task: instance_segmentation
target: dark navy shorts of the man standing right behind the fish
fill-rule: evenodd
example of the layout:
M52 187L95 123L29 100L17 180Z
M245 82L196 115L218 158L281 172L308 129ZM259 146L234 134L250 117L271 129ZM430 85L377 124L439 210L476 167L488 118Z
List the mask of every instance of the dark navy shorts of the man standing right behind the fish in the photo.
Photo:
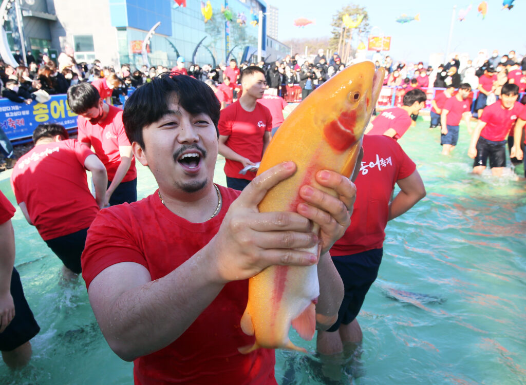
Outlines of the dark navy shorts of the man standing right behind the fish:
M378 276L383 249L372 249L358 254L332 257L332 262L343 281L345 294L338 311L338 320L327 331L336 331L340 325L349 325L360 312L372 282Z

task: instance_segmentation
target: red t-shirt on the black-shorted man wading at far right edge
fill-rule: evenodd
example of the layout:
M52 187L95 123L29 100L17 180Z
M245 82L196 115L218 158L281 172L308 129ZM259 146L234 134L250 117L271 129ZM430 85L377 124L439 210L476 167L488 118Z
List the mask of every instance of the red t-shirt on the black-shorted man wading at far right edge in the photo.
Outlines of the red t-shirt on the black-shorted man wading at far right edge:
M480 136L492 141L502 141L508 134L513 136L513 125L522 110L522 104L515 102L510 109L502 107L500 100L486 106L480 118L486 125L480 131Z

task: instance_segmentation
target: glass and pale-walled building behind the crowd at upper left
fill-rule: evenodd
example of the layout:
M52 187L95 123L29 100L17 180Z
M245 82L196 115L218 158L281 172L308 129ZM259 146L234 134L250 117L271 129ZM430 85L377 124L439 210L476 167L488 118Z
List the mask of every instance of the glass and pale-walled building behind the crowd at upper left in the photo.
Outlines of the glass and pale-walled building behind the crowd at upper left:
M22 3L27 50L47 52L52 59L70 45L77 62L96 58L103 65L171 67L178 56L200 65L226 63L232 57L239 62L248 46L258 46L259 11L264 14L265 55L267 5L259 0L209 0L204 8L197 0L15 1ZM15 16L9 16L6 31L14 52L21 39Z

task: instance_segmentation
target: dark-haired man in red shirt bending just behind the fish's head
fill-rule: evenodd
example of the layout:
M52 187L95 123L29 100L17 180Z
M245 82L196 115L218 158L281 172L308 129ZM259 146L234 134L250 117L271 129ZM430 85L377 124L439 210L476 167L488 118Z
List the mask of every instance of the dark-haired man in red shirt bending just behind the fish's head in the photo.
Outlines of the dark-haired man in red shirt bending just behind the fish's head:
M412 89L403 96L403 106L385 109L366 129L369 135L386 135L400 139L411 127L411 116L426 106L427 96L421 89Z

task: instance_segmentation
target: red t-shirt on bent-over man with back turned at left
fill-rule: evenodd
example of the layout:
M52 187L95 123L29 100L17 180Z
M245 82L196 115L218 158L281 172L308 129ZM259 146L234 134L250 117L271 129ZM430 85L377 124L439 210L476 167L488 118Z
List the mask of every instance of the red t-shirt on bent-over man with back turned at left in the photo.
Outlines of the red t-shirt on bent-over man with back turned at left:
M84 161L92 151L75 139L38 145L18 159L11 185L42 239L89 227L99 211Z

